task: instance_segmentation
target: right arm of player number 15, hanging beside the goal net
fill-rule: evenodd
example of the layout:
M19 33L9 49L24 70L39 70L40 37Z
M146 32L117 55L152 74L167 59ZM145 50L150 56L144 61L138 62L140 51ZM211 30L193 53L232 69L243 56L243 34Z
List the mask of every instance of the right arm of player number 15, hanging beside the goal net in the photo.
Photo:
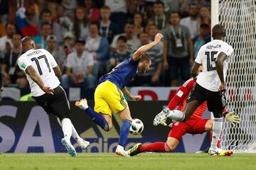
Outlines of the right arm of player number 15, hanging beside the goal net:
M216 70L218 73L218 77L220 78L220 91L225 91L225 79L223 74L223 62L226 59L227 55L224 52L220 52L216 60Z

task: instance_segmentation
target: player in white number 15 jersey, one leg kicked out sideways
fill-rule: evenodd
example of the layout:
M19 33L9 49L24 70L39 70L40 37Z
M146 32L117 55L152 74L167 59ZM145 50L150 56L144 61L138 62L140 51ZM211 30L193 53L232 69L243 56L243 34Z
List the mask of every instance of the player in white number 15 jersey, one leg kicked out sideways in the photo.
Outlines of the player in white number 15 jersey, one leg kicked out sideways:
M165 111L156 115L154 125L159 125L166 118L171 118L178 121L186 121L191 117L193 112L204 101L208 101L208 110L213 112L213 137L209 149L210 155L218 155L223 152L217 147L217 142L220 137L220 132L223 127L222 115L223 108L226 105L225 98L225 76L228 69L230 55L233 53L233 47L224 42L225 28L217 24L213 27L213 41L203 45L198 52L191 75L196 79L196 86L191 91L183 112ZM203 66L203 72L198 75L198 68Z

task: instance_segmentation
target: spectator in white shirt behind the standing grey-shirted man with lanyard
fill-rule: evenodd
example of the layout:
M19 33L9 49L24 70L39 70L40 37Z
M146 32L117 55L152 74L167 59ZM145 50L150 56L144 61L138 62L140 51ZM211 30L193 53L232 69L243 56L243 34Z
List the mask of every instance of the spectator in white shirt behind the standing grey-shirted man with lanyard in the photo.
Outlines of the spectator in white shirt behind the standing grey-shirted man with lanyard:
M200 27L200 18L199 18L199 6L196 4L191 4L189 8L189 16L181 19L181 25L189 28L189 33L191 39L195 38L198 35Z

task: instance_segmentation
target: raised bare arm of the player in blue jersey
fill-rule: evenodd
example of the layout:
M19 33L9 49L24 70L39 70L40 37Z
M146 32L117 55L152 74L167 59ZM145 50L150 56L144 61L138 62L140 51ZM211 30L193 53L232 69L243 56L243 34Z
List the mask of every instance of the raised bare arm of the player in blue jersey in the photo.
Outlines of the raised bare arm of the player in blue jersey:
M139 49L136 52L134 52L134 55L132 56L133 60L134 61L139 60L142 57L144 52L146 52L147 50L150 50L151 47L154 47L155 45L157 45L161 41L161 38L163 37L164 35L161 35L161 33L157 33L153 42L150 42L147 45L142 45L142 47L139 47Z

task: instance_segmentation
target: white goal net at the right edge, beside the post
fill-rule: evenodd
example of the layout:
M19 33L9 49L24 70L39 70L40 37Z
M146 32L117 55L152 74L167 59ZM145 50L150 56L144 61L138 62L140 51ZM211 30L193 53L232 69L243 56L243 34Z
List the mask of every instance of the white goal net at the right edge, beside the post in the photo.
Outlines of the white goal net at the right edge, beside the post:
M240 115L236 128L223 124L222 147L256 152L256 1L220 0L218 13L225 41L234 48L226 79L228 111Z

